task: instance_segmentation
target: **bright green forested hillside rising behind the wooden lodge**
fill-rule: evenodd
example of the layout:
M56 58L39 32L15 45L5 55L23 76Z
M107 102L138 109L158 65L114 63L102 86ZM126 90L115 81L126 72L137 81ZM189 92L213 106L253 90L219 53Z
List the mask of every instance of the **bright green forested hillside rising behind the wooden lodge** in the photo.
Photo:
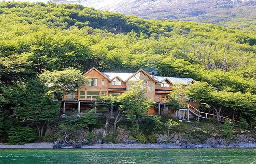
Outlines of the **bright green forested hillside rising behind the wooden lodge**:
M193 78L202 82L188 95L200 98L202 110L251 123L256 117L255 30L147 20L78 4L1 2L0 132L28 114L43 112L34 120L42 125L46 117L54 122L58 107L46 101L38 76L70 67Z

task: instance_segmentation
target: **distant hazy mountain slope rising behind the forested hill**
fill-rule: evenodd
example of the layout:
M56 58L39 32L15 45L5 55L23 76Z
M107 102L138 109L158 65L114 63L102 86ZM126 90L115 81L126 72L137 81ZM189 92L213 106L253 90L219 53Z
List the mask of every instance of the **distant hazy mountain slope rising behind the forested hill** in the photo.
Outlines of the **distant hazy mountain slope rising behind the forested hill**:
M146 19L177 19L241 27L255 24L256 0L53 0ZM245 25L241 24L245 22Z

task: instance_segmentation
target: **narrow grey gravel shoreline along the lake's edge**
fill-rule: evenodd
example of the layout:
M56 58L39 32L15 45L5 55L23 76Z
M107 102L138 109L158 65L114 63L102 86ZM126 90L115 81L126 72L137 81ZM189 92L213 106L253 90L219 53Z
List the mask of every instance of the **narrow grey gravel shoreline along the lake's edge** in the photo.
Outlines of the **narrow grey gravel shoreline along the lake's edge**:
M0 149L53 149L54 143L40 142L40 143L27 143L24 145L7 145L0 144ZM181 145L174 144L99 144L92 146L82 146L82 149L201 149L201 148L256 148L253 143L241 143L230 145ZM73 149L73 147L62 147L61 149Z

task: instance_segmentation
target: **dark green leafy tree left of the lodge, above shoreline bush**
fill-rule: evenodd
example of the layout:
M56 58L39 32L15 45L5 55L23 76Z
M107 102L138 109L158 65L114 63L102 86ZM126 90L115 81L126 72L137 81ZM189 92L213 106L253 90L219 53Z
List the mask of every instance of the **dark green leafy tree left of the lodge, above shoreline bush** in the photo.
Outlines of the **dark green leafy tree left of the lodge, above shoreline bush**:
M45 125L53 123L59 117L60 104L52 102L37 79L17 82L14 86L4 88L4 95L14 107L11 117L36 125L39 137L43 136Z

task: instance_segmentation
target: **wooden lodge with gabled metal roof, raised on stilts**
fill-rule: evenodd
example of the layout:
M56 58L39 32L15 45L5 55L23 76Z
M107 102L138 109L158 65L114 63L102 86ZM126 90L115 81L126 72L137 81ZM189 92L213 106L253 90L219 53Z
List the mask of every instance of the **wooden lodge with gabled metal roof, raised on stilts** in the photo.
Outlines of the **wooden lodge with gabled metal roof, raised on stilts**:
M119 96L121 93L128 91L131 85L130 81L143 80L143 85L147 88L146 95L148 99L156 102L156 105L148 111L149 114L178 116L180 115L178 111L174 112L173 109L168 108L168 94L172 91L174 84L182 84L181 87L185 88L188 84L194 82L191 78L154 76L154 72L147 73L143 69L135 73L113 73L100 72L98 69L92 68L83 76L88 76L91 81L86 86L81 86L78 91L67 92L63 97L63 114L68 114L72 109L78 109L78 113L91 108L97 110L100 104L97 97L108 94ZM197 102L194 99L187 102L187 104L197 108ZM117 111L117 108L117 106L111 108L111 115L113 111Z

